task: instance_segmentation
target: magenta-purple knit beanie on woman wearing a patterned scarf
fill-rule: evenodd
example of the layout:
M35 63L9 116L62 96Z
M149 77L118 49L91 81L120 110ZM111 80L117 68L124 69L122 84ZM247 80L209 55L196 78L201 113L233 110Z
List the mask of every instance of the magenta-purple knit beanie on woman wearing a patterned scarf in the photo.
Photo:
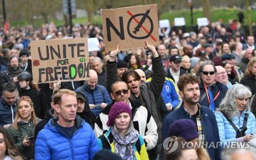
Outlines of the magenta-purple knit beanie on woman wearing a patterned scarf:
M108 122L106 122L106 125L108 127L113 126L115 118L123 112L129 113L130 117L132 117L131 107L128 104L126 104L125 102L116 102L115 104L113 104L110 109L109 120Z

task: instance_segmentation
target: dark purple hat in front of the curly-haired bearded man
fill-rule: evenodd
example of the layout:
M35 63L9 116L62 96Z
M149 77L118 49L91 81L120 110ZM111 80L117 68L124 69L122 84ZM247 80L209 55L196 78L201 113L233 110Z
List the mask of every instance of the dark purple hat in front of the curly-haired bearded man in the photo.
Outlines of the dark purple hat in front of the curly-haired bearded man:
M186 141L198 138L198 129L194 121L180 119L169 125L169 136L181 136Z

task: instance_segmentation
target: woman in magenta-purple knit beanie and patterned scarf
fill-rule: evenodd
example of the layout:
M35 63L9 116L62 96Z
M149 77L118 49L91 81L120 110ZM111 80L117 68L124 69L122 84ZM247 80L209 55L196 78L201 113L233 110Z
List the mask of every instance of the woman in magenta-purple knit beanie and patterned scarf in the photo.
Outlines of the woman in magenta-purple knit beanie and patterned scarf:
M110 129L98 139L101 149L109 149L125 160L148 159L144 140L134 129L129 105L125 102L116 102L110 109L106 124Z

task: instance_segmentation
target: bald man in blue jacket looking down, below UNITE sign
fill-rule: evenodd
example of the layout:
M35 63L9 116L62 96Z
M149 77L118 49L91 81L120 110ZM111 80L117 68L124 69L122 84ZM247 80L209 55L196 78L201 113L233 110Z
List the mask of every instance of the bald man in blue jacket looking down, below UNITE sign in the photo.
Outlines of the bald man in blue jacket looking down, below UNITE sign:
M88 97L89 106L94 115L99 116L102 109L112 102L110 95L103 85L98 84L98 75L94 70L89 71L90 80L75 91L82 92Z

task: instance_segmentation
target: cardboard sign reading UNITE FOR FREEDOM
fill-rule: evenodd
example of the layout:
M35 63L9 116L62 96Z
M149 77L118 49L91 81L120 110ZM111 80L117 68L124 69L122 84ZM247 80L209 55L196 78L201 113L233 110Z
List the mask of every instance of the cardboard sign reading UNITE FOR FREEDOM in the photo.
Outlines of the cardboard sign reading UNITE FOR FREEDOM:
M89 78L87 38L31 41L33 83Z

